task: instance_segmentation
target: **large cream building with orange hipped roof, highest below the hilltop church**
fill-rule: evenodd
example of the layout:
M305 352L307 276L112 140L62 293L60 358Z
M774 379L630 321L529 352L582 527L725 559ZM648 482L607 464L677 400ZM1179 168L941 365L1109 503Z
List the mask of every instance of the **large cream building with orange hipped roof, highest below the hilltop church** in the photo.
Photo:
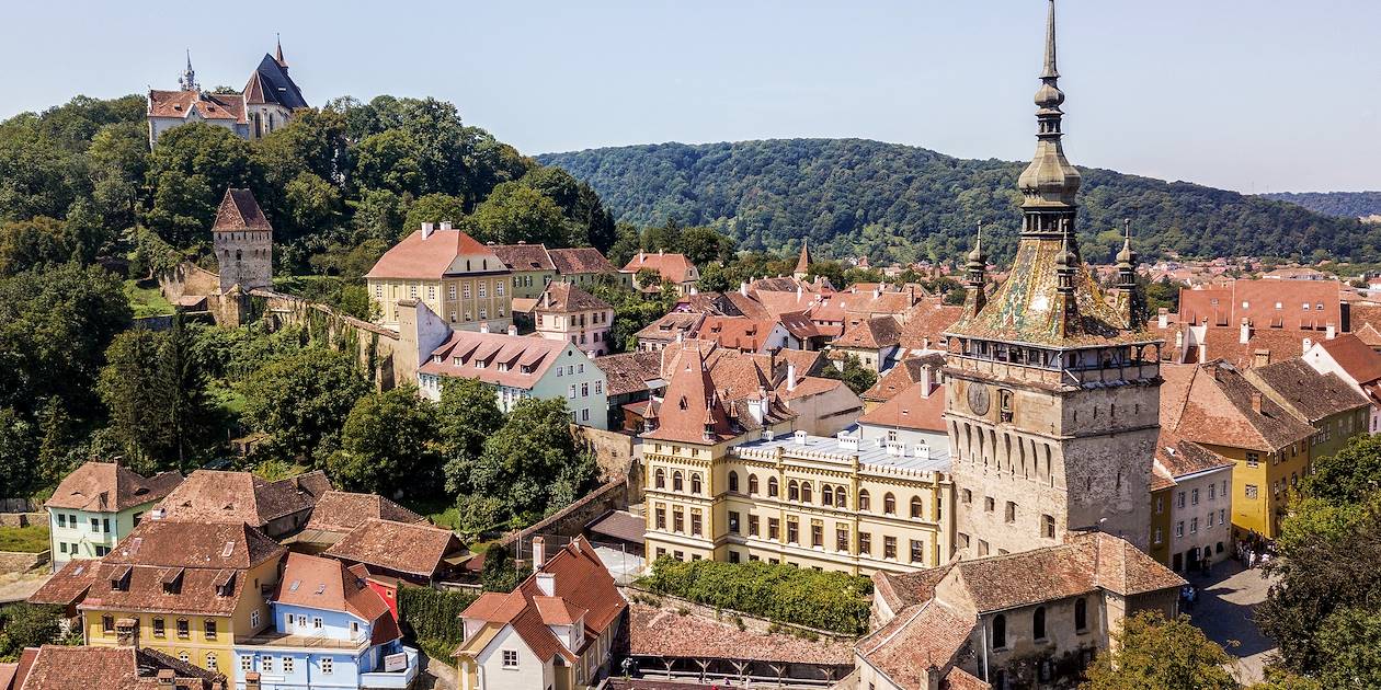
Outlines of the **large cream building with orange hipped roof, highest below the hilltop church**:
M398 328L398 301L417 299L457 330L501 331L512 323L512 272L486 246L450 226L421 229L395 244L365 275L378 323Z

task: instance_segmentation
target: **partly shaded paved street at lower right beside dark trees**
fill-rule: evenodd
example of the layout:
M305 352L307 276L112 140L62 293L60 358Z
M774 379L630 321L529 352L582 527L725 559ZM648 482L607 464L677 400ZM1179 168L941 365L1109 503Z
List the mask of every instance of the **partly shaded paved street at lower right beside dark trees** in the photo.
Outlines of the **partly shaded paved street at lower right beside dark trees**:
M1237 682L1259 682L1266 657L1275 650L1275 643L1253 622L1257 604L1266 600L1269 588L1261 569L1244 570L1237 562L1225 560L1214 566L1211 575L1189 575L1188 580L1199 588L1199 603L1186 611L1195 625L1237 657L1233 669ZM1239 643L1236 647L1233 640Z

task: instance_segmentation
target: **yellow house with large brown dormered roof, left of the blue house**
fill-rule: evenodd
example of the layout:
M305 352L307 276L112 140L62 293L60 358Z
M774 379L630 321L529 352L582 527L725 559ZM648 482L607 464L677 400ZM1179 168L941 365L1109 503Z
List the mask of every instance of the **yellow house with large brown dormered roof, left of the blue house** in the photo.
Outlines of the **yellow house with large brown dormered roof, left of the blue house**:
M243 523L145 520L90 570L54 580L88 582L77 604L87 644L137 642L235 679L235 640L272 625L267 592L284 552Z

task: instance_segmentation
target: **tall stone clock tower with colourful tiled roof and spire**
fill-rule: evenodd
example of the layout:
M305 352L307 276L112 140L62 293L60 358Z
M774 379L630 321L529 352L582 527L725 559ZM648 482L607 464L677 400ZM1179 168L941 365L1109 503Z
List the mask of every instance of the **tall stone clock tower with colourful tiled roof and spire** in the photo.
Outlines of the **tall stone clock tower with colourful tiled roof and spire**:
M1051 546L1073 531L1149 542L1160 341L1145 331L1135 280L1105 294L1080 255L1054 0L1040 80L1036 156L1018 181L1016 257L989 294L975 241L964 315L946 334L953 544L965 556ZM1124 254L1120 262L1134 261L1130 240Z

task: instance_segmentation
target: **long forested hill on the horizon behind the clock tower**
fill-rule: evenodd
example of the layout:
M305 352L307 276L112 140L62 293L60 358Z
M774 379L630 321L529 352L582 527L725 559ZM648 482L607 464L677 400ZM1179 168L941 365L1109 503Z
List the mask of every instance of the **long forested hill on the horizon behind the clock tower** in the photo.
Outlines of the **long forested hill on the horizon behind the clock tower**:
M1025 166L866 139L660 144L539 160L588 182L621 221L708 224L749 250L794 250L809 237L824 255L874 261L952 261L969 248L979 219L992 253L1008 257ZM1090 261L1116 254L1121 218L1132 219L1143 255L1348 257L1381 247L1381 226L1355 219L1188 182L1081 171L1077 229Z

